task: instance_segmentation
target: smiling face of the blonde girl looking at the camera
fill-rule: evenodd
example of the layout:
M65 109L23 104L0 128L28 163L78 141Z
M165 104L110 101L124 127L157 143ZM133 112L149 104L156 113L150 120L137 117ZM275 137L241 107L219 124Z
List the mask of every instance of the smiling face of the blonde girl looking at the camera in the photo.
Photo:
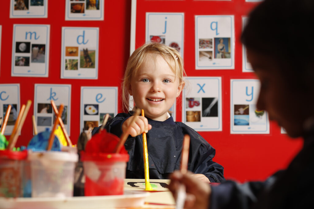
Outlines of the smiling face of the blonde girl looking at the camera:
M165 121L183 86L161 55L149 53L138 74L131 77L129 94L145 116Z

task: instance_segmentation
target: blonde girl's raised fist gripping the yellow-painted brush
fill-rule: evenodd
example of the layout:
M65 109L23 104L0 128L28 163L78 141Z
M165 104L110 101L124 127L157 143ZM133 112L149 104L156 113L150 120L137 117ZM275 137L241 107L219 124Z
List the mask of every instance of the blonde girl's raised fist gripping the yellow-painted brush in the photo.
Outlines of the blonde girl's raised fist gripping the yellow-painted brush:
M122 124L122 132L127 131L127 127L130 125L132 119L136 117L134 123L130 127L129 134L133 137L145 132L147 133L150 129L152 129L152 125L148 124L147 118L143 116L131 116L127 118Z

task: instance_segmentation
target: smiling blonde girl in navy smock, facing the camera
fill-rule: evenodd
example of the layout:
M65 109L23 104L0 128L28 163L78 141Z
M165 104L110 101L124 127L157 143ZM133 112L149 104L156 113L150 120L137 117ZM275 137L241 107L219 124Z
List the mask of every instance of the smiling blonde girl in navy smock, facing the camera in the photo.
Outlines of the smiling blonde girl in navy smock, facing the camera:
M184 87L183 60L168 46L151 42L133 52L125 72L122 98L124 108L129 108L133 96L135 108L144 110L138 116L126 141L130 160L126 178L144 179L142 133L146 133L149 155L149 177L167 179L180 168L184 134L191 137L188 170L205 182L222 182L224 168L213 162L215 149L196 131L184 123L174 122L168 110ZM106 129L120 137L132 121L133 111L120 113L106 124ZM95 131L94 131L95 132Z

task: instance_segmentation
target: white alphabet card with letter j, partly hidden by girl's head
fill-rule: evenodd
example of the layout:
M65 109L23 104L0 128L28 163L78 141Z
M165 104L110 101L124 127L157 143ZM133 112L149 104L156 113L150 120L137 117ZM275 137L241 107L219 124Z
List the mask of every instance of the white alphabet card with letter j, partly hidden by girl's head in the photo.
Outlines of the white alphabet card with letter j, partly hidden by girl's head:
M183 57L184 13L146 13L146 41L178 50Z

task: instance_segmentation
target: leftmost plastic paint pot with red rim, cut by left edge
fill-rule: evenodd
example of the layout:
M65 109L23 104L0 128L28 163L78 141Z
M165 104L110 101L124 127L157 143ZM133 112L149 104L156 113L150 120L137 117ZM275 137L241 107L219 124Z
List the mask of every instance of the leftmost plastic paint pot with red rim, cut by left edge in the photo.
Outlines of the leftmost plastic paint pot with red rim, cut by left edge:
M0 197L23 196L23 165L27 151L0 150Z

